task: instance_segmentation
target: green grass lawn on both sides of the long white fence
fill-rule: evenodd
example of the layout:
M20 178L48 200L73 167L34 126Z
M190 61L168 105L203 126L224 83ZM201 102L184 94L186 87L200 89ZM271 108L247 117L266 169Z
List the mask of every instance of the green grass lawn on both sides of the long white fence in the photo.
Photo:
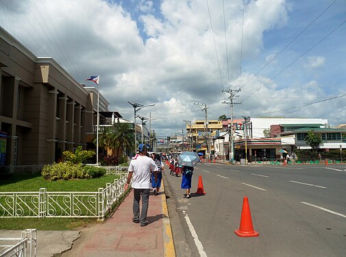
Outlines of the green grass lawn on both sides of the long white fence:
M40 174L18 174L1 178L0 192L38 192L40 188L47 188L48 192L97 192L98 188L105 188L106 183L112 183L117 178L119 176L104 175L90 180L49 181ZM73 230L96 222L96 218L0 218L0 230Z

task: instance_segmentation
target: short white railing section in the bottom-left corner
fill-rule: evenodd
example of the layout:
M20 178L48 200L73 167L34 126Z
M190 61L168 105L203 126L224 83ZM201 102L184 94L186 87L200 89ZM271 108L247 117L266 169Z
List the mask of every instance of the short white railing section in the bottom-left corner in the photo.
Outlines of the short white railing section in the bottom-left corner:
M0 238L0 257L36 256L36 229L23 230L19 238Z

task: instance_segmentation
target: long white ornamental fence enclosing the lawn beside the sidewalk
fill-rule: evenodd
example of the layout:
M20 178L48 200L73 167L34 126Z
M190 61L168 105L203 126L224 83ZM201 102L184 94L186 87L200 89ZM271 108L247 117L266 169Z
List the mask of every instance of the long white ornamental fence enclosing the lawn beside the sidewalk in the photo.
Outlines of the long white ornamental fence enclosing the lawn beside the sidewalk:
M120 175L97 192L0 192L0 218L59 217L103 219L123 195L127 167L107 168L108 174Z

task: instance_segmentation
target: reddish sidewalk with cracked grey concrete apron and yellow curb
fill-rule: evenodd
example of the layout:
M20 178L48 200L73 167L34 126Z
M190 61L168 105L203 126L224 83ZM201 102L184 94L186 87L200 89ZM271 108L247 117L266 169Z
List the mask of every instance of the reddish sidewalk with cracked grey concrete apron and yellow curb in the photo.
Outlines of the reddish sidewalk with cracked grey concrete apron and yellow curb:
M132 222L132 203L133 191L110 219L80 232L39 230L37 256L175 256L163 183L160 195L149 197L147 226ZM21 230L0 230L1 237L20 238Z

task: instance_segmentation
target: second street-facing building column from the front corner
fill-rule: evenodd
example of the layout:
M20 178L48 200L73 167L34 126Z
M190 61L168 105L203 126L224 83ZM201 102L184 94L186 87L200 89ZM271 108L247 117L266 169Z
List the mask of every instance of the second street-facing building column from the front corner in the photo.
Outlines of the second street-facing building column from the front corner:
M62 159L62 152L66 151L66 103L67 97L59 97L59 128L58 128L58 151L59 158Z

